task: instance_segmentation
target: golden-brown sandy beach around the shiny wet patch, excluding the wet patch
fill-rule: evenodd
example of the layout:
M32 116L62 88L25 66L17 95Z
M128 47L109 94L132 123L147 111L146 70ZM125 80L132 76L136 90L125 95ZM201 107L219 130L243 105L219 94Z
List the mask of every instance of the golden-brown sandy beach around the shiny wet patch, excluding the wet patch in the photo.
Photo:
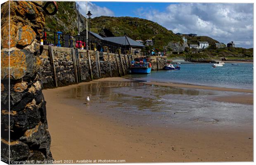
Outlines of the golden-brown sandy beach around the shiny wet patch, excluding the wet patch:
M218 127L214 124L194 128L166 123L156 124L139 115L126 117L124 116L126 113L111 109L94 110L94 107L100 106L99 103L106 108L109 107L108 100L99 97L97 104L90 102L86 105L81 99L77 101L70 92L78 90L79 94L83 94L80 90L84 85L95 86L101 82L128 83L128 81L130 80L123 78L106 78L43 90L52 137L51 152L55 160L62 160L62 163L64 160L70 160L66 163L83 163L83 160L125 160L126 163L253 161L252 122L238 129ZM190 88L191 86L175 85L174 87ZM200 89L209 90L209 88L252 92L215 87ZM104 90L103 87L101 89ZM225 98L216 100L229 102ZM239 103L238 99L233 98L232 101ZM251 98L244 99L243 104L251 104Z

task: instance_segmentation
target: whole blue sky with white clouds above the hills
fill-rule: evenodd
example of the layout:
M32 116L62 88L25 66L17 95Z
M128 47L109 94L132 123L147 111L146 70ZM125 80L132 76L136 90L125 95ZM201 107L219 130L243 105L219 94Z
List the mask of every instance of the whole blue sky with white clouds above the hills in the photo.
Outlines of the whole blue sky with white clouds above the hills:
M85 1L77 2L84 16ZM236 47L253 47L253 4L88 2L95 16L132 16L157 22L174 33L206 35Z

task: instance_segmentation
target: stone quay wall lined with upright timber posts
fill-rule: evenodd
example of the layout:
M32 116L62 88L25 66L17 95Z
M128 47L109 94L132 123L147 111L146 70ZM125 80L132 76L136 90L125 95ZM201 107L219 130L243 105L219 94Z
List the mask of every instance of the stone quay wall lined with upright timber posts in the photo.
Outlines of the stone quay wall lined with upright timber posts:
M39 56L44 88L126 75L136 56L44 45Z

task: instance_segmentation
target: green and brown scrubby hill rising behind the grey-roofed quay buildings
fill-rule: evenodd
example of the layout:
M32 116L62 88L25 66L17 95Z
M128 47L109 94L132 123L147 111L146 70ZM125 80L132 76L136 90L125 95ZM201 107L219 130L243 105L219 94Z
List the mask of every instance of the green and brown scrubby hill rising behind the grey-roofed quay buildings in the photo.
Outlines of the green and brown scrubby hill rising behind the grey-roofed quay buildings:
M127 35L133 40L151 39L154 47L160 51L164 50L164 46L167 46L169 42L183 43L180 36L156 22L136 17L95 17L91 19L91 30L106 37Z

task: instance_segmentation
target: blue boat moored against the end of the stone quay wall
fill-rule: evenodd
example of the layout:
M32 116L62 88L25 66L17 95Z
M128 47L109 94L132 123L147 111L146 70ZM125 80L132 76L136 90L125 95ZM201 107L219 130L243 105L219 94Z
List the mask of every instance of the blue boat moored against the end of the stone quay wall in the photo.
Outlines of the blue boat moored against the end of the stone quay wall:
M131 73L135 74L148 74L151 73L151 63L150 59L147 57L135 58L131 61Z

